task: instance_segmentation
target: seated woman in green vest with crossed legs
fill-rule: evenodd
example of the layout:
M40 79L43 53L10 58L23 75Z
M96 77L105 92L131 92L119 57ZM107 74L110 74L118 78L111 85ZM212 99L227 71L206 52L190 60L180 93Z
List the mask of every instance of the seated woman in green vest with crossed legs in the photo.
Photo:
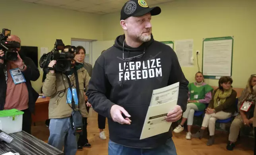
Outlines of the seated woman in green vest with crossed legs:
M191 139L191 127L193 125L194 112L206 109L206 104L211 100L211 91L213 88L204 82L204 76L201 72L197 72L195 76L196 82L188 84L188 104L187 109L183 113L183 118L173 132L179 133L184 130L184 123L187 121L188 133L186 139Z

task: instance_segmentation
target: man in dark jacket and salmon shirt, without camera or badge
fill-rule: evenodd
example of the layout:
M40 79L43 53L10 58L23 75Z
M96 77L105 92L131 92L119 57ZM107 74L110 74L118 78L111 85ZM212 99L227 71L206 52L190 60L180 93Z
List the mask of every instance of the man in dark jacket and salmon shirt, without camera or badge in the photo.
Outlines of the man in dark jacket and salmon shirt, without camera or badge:
M21 43L19 37L15 35L9 36L7 41ZM0 110L17 109L24 112L22 130L31 134L31 113L35 111L35 102L39 96L32 88L31 81L36 81L40 73L33 60L25 57L21 51L17 48L18 59L15 61L0 59ZM0 57L4 57L2 50ZM14 83L10 70L15 68L23 74L24 82Z

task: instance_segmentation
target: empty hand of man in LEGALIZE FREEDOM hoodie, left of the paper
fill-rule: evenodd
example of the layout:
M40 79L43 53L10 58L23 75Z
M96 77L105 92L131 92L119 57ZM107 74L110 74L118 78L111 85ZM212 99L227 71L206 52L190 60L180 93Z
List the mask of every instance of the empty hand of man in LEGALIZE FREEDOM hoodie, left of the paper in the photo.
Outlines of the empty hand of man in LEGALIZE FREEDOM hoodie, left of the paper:
M126 116L126 118L124 119L124 117L122 116L122 113ZM114 122L118 122L120 124L128 124L130 125L131 124L131 120L128 118L128 117L131 117L129 115L128 112L126 112L126 110L124 110L123 107L121 106L118 106L118 105L113 105L111 107L111 110L110 110L110 115L111 115L111 118Z

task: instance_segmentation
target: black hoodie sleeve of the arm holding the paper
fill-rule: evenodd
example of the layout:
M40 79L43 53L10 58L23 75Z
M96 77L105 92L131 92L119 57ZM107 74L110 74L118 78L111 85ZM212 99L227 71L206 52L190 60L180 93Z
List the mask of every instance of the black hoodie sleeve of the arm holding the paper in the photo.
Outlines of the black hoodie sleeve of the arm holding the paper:
M169 77L169 85L173 83L180 82L179 92L178 92L178 103L183 112L186 111L187 102L188 102L188 80L184 76L180 63L178 62L178 57L176 53L171 49L171 74Z

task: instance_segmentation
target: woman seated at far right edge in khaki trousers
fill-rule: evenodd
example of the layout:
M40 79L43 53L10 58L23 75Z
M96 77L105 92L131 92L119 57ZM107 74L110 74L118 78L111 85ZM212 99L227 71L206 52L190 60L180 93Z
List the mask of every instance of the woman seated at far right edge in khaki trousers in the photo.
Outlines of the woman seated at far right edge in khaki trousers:
M233 122L231 123L229 132L229 143L227 144L227 149L232 151L235 147L235 142L237 141L239 130L243 125L250 127L253 121L254 107L256 103L256 95L253 93L253 87L256 85L256 75L252 75L247 82L246 88L242 91L239 98L237 107L239 109L240 115L237 115ZM241 106L247 103L252 103L252 106L246 109L240 109Z

